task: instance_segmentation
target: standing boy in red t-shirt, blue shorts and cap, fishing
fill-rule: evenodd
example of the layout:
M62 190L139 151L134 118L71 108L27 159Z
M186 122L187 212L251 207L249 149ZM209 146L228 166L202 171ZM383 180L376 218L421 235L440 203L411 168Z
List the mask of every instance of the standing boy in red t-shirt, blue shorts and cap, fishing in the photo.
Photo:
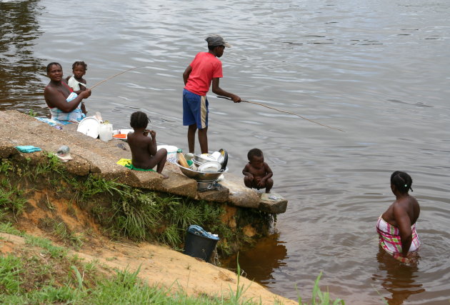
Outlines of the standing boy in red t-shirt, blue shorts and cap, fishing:
M199 129L201 154L208 154L208 100L206 93L212 81L212 91L220 96L227 96L235 103L241 102L236 94L231 94L219 87L222 75L222 63L218 59L224 54L225 47L231 47L219 35L206 37L208 52L200 52L187 66L183 73L183 125L188 128L189 152L194 153L195 134Z

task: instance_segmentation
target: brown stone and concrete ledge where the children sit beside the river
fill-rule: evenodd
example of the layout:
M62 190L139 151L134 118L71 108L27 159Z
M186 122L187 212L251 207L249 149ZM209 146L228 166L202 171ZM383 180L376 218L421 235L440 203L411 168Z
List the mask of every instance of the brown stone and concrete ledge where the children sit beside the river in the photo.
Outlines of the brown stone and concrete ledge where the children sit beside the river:
M187 196L194 199L228 203L249 209L261 209L271 214L284 213L287 200L274 203L260 201L259 194L244 186L242 177L225 173L223 188L214 191L197 191L197 182L181 173L178 166L166 163L162 179L151 171L131 171L116 164L119 159L131 159L131 151L125 141L112 139L104 142L76 131L77 124L68 124L62 130L49 126L19 111L0 111L0 158L14 156L19 160L36 163L46 158L46 153L55 153L61 145L69 146L71 161L63 163L69 173L76 176L96 174L104 179L142 189L163 191L169 194ZM43 151L21 154L15 146L34 145Z

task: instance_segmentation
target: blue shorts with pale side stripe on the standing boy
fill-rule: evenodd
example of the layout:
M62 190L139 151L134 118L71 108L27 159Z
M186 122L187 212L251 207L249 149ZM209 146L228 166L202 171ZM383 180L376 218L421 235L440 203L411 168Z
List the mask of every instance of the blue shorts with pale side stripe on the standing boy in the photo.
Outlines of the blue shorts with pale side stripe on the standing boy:
M208 104L206 96L183 89L183 125L196 124L198 129L208 127Z

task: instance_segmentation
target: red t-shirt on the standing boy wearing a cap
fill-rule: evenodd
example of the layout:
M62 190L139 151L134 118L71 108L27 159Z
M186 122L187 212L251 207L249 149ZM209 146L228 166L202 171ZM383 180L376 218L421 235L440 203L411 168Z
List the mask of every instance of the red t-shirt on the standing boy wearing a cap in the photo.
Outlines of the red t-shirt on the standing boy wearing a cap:
M190 66L192 71L184 89L194 94L205 96L209 91L212 79L223 77L222 62L211 53L200 52L195 56Z

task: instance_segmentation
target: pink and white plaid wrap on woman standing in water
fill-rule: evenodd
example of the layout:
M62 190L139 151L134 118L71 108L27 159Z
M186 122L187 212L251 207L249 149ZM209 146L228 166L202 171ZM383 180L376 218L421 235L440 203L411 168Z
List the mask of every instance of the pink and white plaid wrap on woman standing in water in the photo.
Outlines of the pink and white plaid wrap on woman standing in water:
M394 259L401 261L402 263L406 262L406 258L401 256L402 250L399 228L392 226L381 216L379 216L379 219L376 222L376 231L378 232L379 244L381 248L383 248L387 253L391 254ZM416 231L416 224L413 224L411 226L411 231L412 241L411 246L409 247L409 252L414 252L419 250L420 247L419 236L417 235Z

